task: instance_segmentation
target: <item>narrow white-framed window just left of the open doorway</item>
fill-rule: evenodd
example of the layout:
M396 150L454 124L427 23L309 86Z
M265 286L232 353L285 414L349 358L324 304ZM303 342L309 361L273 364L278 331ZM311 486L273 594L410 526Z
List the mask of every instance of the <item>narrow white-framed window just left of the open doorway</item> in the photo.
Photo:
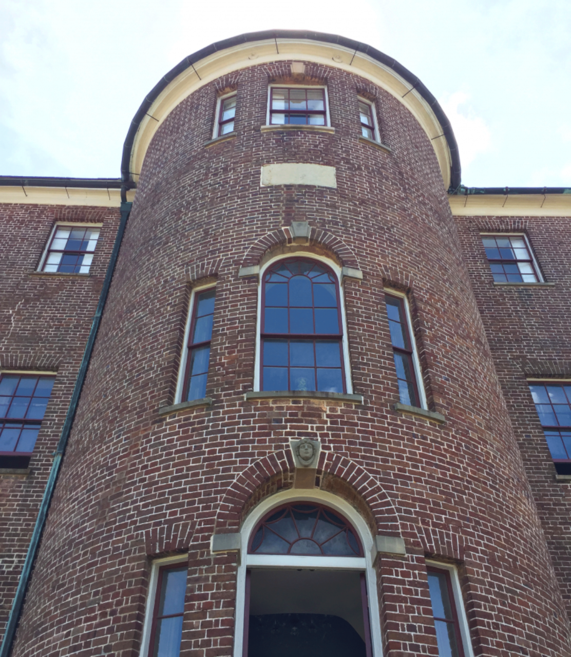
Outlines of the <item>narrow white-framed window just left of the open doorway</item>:
M152 564L141 657L179 657L187 591L187 555Z

